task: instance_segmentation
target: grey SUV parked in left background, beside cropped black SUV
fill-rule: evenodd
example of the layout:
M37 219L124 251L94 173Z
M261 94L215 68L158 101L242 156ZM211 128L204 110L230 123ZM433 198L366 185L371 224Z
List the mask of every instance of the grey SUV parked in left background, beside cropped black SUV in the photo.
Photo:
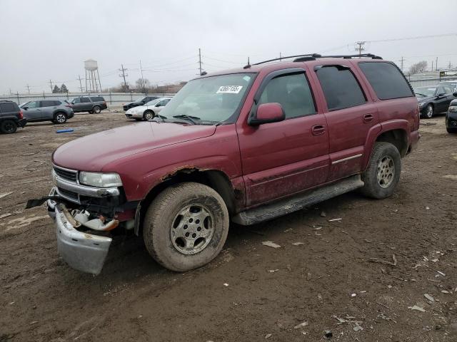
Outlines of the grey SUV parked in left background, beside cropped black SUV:
M21 109L24 110L24 118L29 123L66 123L67 119L74 116L73 109L66 100L33 100L22 104Z

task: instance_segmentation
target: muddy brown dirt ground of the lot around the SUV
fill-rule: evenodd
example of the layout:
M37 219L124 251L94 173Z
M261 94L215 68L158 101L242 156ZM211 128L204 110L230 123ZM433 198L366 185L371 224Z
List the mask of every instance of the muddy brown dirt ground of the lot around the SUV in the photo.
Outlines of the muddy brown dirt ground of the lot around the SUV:
M26 200L49 192L56 147L131 124L76 115L0 135L0 197L12 192L0 199L1 342L457 341L457 135L443 117L423 120L389 199L351 193L232 225L221 255L184 274L119 237L99 276L79 273L59 259L46 209Z

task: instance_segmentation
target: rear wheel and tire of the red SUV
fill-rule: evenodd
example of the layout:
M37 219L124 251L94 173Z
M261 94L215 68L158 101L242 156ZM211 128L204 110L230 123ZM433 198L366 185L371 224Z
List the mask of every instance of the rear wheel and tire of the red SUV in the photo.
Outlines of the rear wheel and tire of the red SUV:
M363 195L382 199L393 194L401 175L401 156L390 142L376 142L362 173Z

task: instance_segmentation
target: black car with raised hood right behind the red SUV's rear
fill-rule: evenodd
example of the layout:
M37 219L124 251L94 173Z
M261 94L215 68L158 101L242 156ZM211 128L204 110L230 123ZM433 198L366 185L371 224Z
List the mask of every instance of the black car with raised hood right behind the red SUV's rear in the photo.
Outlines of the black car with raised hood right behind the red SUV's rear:
M421 111L421 117L431 119L433 115L448 110L449 103L455 98L450 86L431 86L413 88Z

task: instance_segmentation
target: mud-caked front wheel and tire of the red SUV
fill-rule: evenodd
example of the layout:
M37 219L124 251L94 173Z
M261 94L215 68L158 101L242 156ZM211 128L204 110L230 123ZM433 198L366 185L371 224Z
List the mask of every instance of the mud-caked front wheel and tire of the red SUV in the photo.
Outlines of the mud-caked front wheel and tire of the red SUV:
M180 215L188 207L189 217L194 217L194 221L185 214ZM192 212L192 208L203 209ZM200 214L211 217L200 222ZM178 229L185 237L176 238ZM221 252L228 232L229 212L224 199L211 187L195 182L172 185L161 192L147 209L143 225L144 244L149 254L172 271L189 271L208 264ZM204 239L202 234L211 236ZM186 249L188 242L190 249Z

